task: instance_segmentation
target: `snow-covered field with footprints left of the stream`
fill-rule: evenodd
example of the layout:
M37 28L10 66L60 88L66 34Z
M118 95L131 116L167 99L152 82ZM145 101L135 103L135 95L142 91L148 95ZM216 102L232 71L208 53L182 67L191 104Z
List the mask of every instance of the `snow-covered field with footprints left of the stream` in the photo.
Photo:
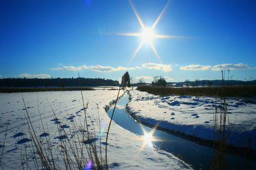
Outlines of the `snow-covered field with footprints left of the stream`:
M135 94L136 91L133 93ZM83 92L84 99L89 100L87 111L90 120L92 120L90 121L89 129L92 130L92 125L94 125L97 137L99 137L97 134L100 134L97 111L97 104L99 104L100 122L102 124L101 134L103 134L102 141L105 141L106 126L109 122L109 117L104 111L104 106L109 101L115 99L116 94L116 90ZM81 92L26 92L23 93L23 96L38 137L40 135L44 136L44 132L49 133L51 146L54 150L60 145L60 140L65 141L67 140L65 138L76 138L76 131L72 129L73 125L78 124L77 122L83 122ZM22 152L24 154L24 148L23 151L21 149L23 146L25 146L26 150L29 150L31 147L28 125L26 124L25 118L26 113L24 104L22 103L22 94L0 94L0 108L0 153L3 150L1 166L4 169L21 169L22 161L20 159L20 153ZM59 120L54 120L52 110L54 110ZM40 121L39 111L42 115L42 123ZM44 127L47 127L45 131L42 129L42 124L44 124ZM65 138L59 136L56 128L57 124L61 124L63 128L67 129L68 135ZM8 129L6 130L7 125ZM6 142L3 146L5 134ZM95 140L99 146L99 138ZM144 143L141 137L116 125L115 122L111 125L108 143L108 163L111 168L190 169L186 163L170 153L161 150L151 150L147 147L140 151ZM54 157L58 157L58 155L54 155ZM33 166L34 158L28 157L27 159L28 164Z

